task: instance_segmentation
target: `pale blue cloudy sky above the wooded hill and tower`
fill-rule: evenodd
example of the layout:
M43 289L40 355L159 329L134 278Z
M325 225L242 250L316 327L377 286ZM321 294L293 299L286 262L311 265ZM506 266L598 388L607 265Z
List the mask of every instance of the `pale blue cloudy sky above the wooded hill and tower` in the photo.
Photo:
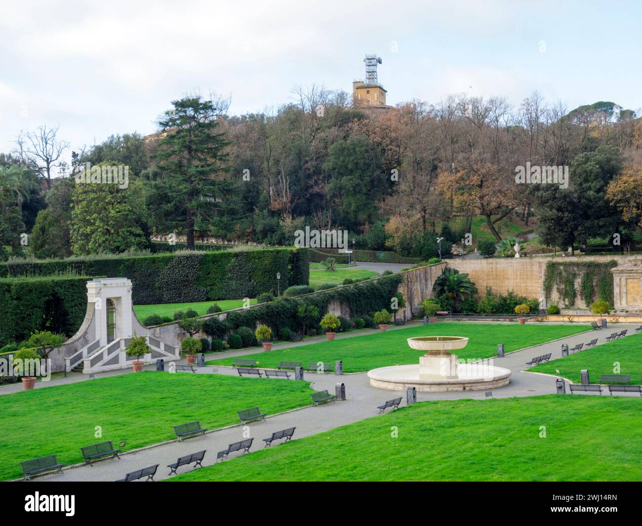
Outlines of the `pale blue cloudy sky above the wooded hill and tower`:
M71 150L149 134L193 92L230 96L236 115L296 85L351 92L366 53L391 105L465 92L518 107L537 90L638 110L641 30L642 3L617 0L1 0L0 152L40 125Z

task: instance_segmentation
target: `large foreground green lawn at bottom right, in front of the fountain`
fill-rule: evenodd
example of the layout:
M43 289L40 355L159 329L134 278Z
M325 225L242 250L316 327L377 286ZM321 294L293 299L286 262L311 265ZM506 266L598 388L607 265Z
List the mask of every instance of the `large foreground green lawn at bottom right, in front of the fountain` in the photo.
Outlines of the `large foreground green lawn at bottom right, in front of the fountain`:
M422 402L169 480L642 480L640 419L636 398Z

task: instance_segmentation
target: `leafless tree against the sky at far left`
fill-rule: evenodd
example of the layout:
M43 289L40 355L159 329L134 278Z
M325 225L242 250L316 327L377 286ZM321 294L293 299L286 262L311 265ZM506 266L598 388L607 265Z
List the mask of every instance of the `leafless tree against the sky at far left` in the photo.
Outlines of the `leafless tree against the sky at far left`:
M35 132L22 130L15 141L24 164L37 171L40 177L46 178L47 188L51 188L51 171L66 166L61 157L69 148L69 143L58 139L59 128L40 126Z

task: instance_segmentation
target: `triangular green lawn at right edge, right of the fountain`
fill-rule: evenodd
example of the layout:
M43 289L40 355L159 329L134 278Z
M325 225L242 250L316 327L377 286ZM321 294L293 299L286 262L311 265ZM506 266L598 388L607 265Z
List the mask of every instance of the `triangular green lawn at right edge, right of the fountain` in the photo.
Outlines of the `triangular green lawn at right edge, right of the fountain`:
M587 336L587 340L591 340ZM616 373L614 368L620 365ZM559 373L555 372L555 369ZM535 373L559 374L573 383L580 383L580 370L588 369L591 383L600 381L600 374L630 374L631 383L639 385L642 380L642 334L620 338L586 351L580 351L564 358L537 365L528 371Z

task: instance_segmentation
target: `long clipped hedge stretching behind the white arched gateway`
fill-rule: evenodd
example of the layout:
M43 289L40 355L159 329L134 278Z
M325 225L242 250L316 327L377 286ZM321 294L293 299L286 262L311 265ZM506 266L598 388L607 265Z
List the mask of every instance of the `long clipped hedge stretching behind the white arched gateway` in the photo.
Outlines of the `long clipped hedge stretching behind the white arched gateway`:
M75 272L85 276L128 277L134 304L215 301L256 297L290 285L307 285L306 249L192 251L142 256L15 260L0 265L1 276L52 276Z

